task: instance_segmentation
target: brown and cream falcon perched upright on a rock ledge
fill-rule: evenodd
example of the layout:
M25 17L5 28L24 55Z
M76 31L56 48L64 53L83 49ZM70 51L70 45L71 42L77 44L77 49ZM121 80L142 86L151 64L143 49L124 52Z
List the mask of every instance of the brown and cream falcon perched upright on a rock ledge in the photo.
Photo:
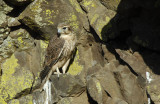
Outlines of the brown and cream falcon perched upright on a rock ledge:
M42 85L49 80L53 72L57 71L56 74L59 76L59 68L62 68L63 74L66 72L76 48L76 34L69 25L60 23L57 30L57 35L51 38L47 47L44 70L40 73Z

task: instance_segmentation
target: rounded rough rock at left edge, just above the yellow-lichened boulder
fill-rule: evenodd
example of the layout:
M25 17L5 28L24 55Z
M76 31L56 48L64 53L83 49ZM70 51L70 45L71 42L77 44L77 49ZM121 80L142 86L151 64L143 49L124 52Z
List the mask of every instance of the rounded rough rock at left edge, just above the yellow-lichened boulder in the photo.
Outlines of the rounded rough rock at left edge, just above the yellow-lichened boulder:
M27 50L33 45L33 38L30 34L24 29L19 29L11 32L0 45L0 55L7 58L16 50Z

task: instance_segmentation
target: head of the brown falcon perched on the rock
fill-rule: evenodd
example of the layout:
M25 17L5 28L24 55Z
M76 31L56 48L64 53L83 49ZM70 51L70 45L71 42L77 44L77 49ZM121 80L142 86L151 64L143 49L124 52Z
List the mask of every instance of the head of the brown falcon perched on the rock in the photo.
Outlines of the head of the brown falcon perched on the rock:
M58 30L57 32L58 36L70 35L70 33L72 32L71 27L66 23L60 23L57 27L57 30Z

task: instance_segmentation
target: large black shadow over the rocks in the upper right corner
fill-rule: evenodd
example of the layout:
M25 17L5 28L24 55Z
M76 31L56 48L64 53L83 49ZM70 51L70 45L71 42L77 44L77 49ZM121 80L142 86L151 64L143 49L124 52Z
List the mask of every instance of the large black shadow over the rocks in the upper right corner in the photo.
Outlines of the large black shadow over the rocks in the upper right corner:
M160 9L160 6L158 6L157 2L158 0L121 0L118 5L117 14L103 27L101 34L102 40L104 42L107 41L107 44L113 47L113 49L120 49L123 52L128 51L133 57L138 58L138 61L144 61L144 64L154 74L159 75L160 15L157 14L157 10ZM118 53L111 52L113 54ZM129 65L131 64L128 62L129 59L126 59L127 57L120 56L120 58ZM136 65L135 62L134 66ZM132 65L130 66L132 67ZM133 68L133 70L135 69Z

